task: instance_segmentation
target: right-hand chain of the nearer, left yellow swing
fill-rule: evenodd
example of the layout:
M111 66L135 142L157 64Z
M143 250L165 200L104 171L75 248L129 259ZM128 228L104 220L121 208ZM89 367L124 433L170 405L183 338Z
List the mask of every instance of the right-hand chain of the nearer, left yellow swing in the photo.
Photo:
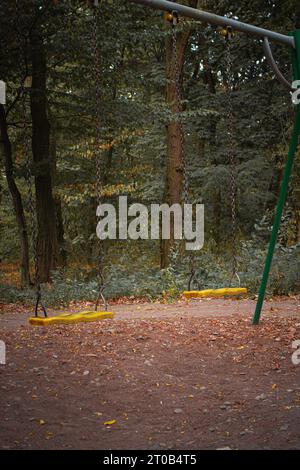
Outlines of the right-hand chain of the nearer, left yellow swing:
M92 25L92 56L93 56L93 78L95 83L95 120L96 132L94 141L95 163L96 163L96 203L97 207L101 204L102 195L102 171L101 171L101 67L99 50L99 19L100 8L98 2L94 2L93 25ZM103 291L105 289L103 276L104 248L103 242L98 241L98 296L96 299L95 310L97 311L100 300L103 301L105 310L107 310L107 301Z

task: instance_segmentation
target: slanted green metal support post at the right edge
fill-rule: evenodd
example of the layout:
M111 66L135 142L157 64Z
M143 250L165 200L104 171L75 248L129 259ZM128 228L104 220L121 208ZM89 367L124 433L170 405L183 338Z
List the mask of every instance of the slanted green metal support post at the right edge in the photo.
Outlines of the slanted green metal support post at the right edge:
M295 44L296 44L296 49L292 51L293 77L294 77L294 80L300 80L300 30L294 31L292 35L295 37ZM287 158L287 162L286 162L286 166L284 170L283 180L281 183L280 195L278 199L274 224L272 228L272 235L271 235L268 254L266 258L265 268L264 268L261 285L259 289L258 300L256 304L255 313L253 316L253 325L257 325L260 320L261 310L262 310L262 306L263 306L263 302L265 298L265 293L266 293L268 278L269 278L270 269L272 265L273 254L274 254L274 250L276 246L282 212L283 212L283 208L284 208L285 201L286 201L286 195L288 191L290 176L292 173L294 157L297 152L298 145L299 145L299 135L300 135L300 105L297 105L294 130L293 130L288 158Z

